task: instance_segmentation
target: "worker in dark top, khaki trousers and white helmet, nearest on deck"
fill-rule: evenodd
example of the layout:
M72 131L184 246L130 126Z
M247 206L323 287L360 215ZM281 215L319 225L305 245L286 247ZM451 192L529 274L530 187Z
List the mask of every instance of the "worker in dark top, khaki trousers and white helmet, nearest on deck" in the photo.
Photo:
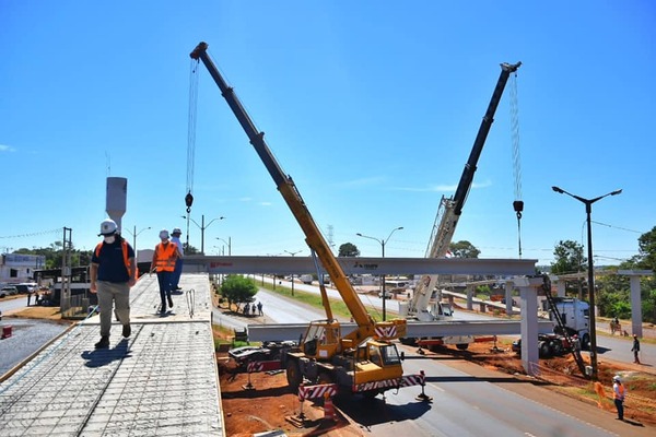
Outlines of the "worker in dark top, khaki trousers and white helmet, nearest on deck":
M91 257L91 293L97 293L101 310L101 341L96 349L109 347L112 312L116 304L116 316L122 324L122 336L132 333L130 328L130 287L137 283L134 250L118 233L113 220L101 223L101 241Z

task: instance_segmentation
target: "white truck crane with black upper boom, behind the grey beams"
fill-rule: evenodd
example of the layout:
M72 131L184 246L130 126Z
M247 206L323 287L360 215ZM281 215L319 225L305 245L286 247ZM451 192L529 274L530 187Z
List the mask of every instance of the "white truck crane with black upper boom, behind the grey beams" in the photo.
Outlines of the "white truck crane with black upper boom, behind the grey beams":
M488 110L485 111L478 134L476 135L469 160L467 161L467 164L465 164L456 192L450 198L443 196L440 201L425 258L443 258L448 251L454 233L456 232L456 226L458 225L458 220L462 213L462 206L465 205L469 189L471 188L471 182L473 181L478 160L483 150L483 145L485 144L492 122L494 121L496 107L499 106L499 102L501 101L501 96L511 73L516 72L519 66L522 66L522 62L515 64L504 62L501 64L501 75L499 76L499 81L492 93L492 99L490 101ZM430 305L433 292L437 286L437 279L438 275L436 274L422 276L414 288L412 299L408 304L399 306L399 315L406 317L408 320L418 321L435 321L443 319L447 315L452 315L450 310L445 310L445 308L443 308L440 293L436 302L434 302L433 305ZM415 340L417 339L408 338L401 339L403 343L414 343ZM467 349L468 343L471 341L472 338L470 336L453 339L441 338L436 340L436 342L445 344L456 344L459 349Z

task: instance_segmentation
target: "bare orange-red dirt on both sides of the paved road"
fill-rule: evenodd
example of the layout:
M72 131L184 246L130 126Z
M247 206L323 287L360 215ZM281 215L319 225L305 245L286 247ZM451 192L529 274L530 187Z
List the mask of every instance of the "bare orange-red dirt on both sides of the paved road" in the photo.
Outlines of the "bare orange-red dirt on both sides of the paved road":
M431 352L426 352L431 353ZM467 351L444 347L440 354L477 363L485 368L515 375L517 378L532 380L525 375L520 358L511 351L509 340L500 342L494 350L492 343L473 343ZM255 433L281 429L289 436L360 436L356 425L345 418L338 422L324 420L323 406L304 402L286 388L284 373L234 374L234 363L226 353L218 353L221 378L221 395L225 414L226 434L246 437ZM549 381L549 389L596 404L598 408L614 412L612 403L612 377L622 375L628 387L625 417L649 426L656 426L656 375L640 371L639 366L619 365L599 362L599 382L595 386L579 376L576 363L571 356L540 359L541 380ZM250 386L248 386L250 385ZM247 390L253 387L253 390ZM544 386L541 386L544 387ZM308 418L306 426L300 428L286 418L297 417L301 413ZM338 414L339 415L339 414Z

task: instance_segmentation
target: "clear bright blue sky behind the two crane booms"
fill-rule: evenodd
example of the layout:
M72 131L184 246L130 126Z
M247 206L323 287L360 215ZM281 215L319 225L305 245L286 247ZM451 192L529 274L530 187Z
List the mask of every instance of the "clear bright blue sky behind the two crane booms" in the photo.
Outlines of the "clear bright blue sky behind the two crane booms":
M0 251L72 228L91 249L107 176L128 178L126 229L154 247L186 233L189 52L210 56L326 238L363 256L423 257L500 74L522 61L523 258L585 240L596 263L637 253L656 225L656 54L651 1L0 0ZM204 67L191 217L206 252L309 253L303 234ZM454 240L517 258L509 83ZM124 232L124 234L126 234ZM127 233L131 240L131 235ZM186 239L186 235L183 236ZM191 223L190 244L200 247Z

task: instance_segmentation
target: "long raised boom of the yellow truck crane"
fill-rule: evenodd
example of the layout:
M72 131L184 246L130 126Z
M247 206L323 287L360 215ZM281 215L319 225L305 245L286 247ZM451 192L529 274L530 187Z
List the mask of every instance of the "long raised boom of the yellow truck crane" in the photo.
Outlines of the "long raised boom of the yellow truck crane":
M209 57L207 48L207 43L200 43L194 49L194 51L191 51L190 57L196 60L201 60L208 69L208 71L210 72L210 75L221 90L221 94L227 102L233 114L235 115L235 117L242 125L242 128L246 132L250 144L253 144L255 151L265 164L265 167L267 167L267 170L273 178L276 187L282 194L282 198L292 211L292 214L296 218L296 222L303 229L307 246L311 248L311 250L313 250L316 253L318 259L321 261L321 264L330 275L330 280L333 282L335 287L339 292L341 298L349 308L349 311L353 316L353 320L358 323L358 329L352 331L350 336L352 336L354 340L362 340L368 336L379 336L380 332L388 332L390 333L388 338L395 338L398 335L391 335L391 332L405 332L405 320L391 320L387 323L376 323L372 319L372 317L366 312L366 309L360 300L360 298L358 297L358 294L351 285L349 277L343 272L343 269L337 261L337 258L332 255L330 246L328 245L328 243L326 243L324 236L321 235L321 232L319 231L314 218L312 217L312 214L309 213L309 210L303 201L301 193L296 189L294 181L290 176L284 174L281 166L276 161L276 157L273 156L265 141L265 133L259 132L257 130L250 117L242 106L242 103L239 102L238 97L235 95L234 90L227 85L227 83L214 66L214 62ZM324 304L328 317L331 318L330 310L327 305L327 303ZM386 329L388 327L394 327L395 329L388 330ZM376 328L383 328L383 330L377 330ZM349 338L349 335L347 335L345 338Z

